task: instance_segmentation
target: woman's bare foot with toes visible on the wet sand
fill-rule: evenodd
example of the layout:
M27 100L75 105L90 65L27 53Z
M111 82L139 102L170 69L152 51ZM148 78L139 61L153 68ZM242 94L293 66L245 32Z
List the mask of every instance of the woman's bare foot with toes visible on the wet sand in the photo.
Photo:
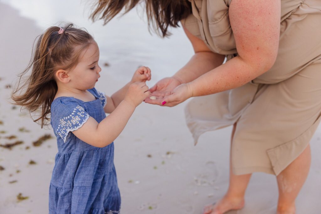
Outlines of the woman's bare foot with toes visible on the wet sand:
M223 214L229 210L239 210L244 207L244 198L224 196L219 202L206 206L203 214Z

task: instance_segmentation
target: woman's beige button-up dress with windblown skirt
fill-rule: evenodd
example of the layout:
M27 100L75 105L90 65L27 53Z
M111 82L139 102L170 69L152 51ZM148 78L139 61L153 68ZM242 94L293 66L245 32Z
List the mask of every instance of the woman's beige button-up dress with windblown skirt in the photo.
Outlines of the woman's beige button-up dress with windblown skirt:
M187 30L227 60L237 56L232 0L189 1L192 14L181 21ZM280 25L269 71L239 88L193 98L186 107L195 144L202 133L237 122L231 146L236 175L278 175L307 147L320 122L321 1L281 0Z

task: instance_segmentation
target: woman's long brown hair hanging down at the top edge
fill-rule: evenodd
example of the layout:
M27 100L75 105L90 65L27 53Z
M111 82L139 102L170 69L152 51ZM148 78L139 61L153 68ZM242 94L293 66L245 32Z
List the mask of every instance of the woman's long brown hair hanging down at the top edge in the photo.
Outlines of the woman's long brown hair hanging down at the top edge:
M92 21L103 19L104 25L125 7L129 12L140 0L98 0L91 13ZM191 14L191 3L187 0L145 0L148 27L162 36L169 36L168 27L179 27L178 22ZM101 16L100 16L101 14ZM100 16L100 17L98 17Z

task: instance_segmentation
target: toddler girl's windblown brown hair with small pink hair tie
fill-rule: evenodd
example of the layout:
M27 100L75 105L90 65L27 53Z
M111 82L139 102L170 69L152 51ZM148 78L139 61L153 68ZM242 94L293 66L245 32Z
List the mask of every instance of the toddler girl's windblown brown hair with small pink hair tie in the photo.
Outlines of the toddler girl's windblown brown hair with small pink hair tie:
M18 86L11 94L13 104L27 108L30 116L31 112L41 109L39 117L33 120L40 120L41 128L48 125L50 106L57 92L55 71L68 71L76 66L82 50L93 42L92 36L86 30L74 28L72 23L66 24L62 29L63 33L58 34L60 27L49 27L38 36L30 63L18 75ZM31 75L19 87L22 76L30 69ZM25 90L21 94L17 94L23 89Z

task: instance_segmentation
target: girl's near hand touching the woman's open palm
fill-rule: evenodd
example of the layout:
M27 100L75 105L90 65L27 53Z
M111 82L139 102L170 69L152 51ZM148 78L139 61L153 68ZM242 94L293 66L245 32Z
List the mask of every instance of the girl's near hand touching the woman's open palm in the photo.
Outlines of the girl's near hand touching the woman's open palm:
M124 100L137 107L150 95L151 92L145 82L134 82L129 86Z

